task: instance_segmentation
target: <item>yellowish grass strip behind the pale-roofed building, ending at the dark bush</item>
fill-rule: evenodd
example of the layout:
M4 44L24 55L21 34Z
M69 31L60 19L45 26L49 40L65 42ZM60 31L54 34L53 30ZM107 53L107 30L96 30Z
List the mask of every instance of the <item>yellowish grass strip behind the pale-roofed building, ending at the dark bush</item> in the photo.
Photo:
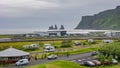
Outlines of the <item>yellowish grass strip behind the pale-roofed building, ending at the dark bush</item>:
M61 44L61 41L43 41L43 42L7 42L7 43L0 43L0 50L7 49L10 46L13 48L17 48L20 50L24 50L24 45L30 45L30 44L40 44L40 47L42 47L44 44L51 44L53 46L59 46Z

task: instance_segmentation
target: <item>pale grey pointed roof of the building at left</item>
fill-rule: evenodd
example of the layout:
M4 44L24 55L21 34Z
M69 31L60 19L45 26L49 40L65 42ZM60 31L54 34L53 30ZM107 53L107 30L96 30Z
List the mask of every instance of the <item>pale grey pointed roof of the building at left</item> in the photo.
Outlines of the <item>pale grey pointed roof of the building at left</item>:
M8 48L6 50L0 51L0 57L17 57L25 55L29 55L29 53L15 48Z

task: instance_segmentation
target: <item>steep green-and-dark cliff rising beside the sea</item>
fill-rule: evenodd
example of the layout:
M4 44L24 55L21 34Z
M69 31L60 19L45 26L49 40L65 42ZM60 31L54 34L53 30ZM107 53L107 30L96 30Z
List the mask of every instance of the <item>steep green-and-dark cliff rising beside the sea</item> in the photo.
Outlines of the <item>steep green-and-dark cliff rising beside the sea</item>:
M120 30L120 6L93 16L83 16L76 29Z

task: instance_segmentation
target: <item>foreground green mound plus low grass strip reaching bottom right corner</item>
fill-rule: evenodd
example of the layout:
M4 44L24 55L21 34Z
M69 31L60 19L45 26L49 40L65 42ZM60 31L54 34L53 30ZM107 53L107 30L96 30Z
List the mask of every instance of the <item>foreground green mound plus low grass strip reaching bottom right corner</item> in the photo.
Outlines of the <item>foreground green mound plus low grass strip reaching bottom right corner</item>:
M49 63L45 63L45 64L28 66L26 68L120 68L120 64L107 65L107 66L96 66L96 67L86 67L86 66L80 66L76 63L69 62L69 61L57 60L57 61L49 62Z

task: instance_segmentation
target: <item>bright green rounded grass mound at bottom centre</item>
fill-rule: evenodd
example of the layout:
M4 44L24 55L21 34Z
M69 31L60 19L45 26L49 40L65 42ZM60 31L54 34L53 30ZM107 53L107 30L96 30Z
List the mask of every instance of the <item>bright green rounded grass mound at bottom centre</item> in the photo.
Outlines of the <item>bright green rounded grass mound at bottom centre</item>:
M40 64L40 65L35 65L35 66L30 66L26 68L86 68L83 66L80 66L76 63L73 62L68 62L68 61L63 61L63 60L58 60L46 64Z

